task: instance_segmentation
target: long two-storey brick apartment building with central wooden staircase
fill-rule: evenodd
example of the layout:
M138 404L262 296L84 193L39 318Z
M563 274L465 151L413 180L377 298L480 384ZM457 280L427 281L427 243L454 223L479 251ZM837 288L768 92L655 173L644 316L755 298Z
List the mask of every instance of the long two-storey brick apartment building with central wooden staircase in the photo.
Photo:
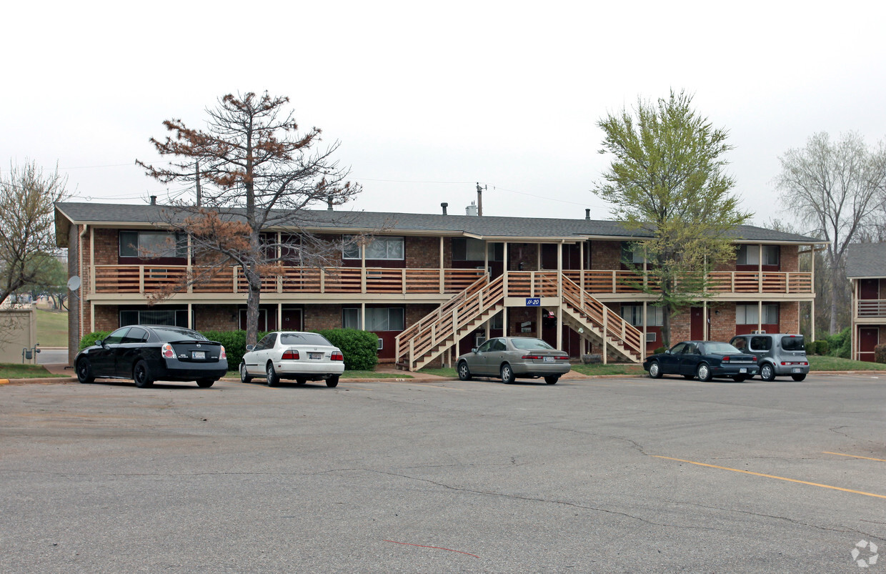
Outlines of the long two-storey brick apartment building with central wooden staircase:
M153 224L162 206L60 203L56 232L68 248L70 275L81 288L70 299L69 348L94 330L135 323L175 323L198 330L245 328L245 279L225 269L213 284L194 286L155 306L144 293L182 276L191 265L187 237ZM343 253L342 268L286 268L268 277L260 330L365 329L379 336L380 361L410 369L450 364L487 337L542 337L572 357L602 353L641 361L662 345L661 308L629 284L624 261L641 235L617 221L488 215L310 212L309 231L330 238L374 234L365 248ZM287 237L291 229L266 229ZM139 248L169 241L161 260ZM812 302L812 273L799 271L812 237L742 226L737 258L711 274L716 287L672 318L672 340L719 339L752 330L797 332L802 302ZM144 250L141 251L144 253Z

